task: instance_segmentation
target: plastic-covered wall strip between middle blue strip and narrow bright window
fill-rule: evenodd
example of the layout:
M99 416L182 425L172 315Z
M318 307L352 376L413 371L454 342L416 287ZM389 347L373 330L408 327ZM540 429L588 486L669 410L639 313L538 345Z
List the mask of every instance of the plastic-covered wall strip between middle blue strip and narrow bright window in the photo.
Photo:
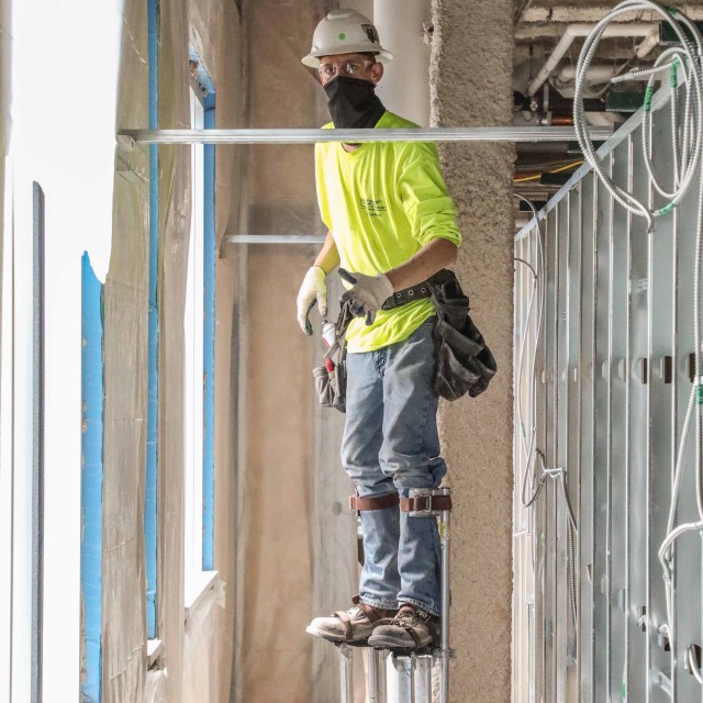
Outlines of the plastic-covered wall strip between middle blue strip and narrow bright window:
M190 126L188 14L159 8L159 127ZM157 632L168 671L167 701L181 700L185 634L185 336L192 192L191 147L159 147Z

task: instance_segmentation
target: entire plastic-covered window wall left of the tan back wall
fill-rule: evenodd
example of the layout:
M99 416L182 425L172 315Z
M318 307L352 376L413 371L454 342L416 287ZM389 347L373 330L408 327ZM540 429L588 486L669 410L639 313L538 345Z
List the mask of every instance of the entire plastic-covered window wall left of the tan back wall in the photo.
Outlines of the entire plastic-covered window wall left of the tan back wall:
M190 12L190 14L189 14ZM118 127L148 123L146 3L124 10ZM170 3L159 16L159 126L190 127L189 41L217 90L219 126L239 126L238 16L230 2ZM237 211L233 152L216 154L216 237ZM158 668L146 671L144 481L148 311L148 152L120 142L105 281L103 700L227 701L234 601L222 583L189 614L183 594L183 306L190 233L189 146L159 147ZM215 569L234 580L231 355L233 263L216 263ZM214 598L214 594L219 594Z

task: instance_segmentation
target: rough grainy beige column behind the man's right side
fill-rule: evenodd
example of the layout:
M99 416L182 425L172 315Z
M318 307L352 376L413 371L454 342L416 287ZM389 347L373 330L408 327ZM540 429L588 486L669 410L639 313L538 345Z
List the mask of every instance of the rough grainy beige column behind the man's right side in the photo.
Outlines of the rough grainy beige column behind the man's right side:
M509 125L510 0L433 0L432 113L436 126ZM510 701L512 594L512 161L511 145L440 148L465 243L457 276L499 373L478 399L442 403L453 488L451 700Z

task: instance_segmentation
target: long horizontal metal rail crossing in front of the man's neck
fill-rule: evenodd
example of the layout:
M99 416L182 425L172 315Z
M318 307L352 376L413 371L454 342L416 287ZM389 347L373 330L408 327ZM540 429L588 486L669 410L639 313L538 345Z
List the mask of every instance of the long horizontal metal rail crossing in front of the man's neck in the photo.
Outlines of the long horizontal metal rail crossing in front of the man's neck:
M593 127L591 140L612 130ZM141 144L314 144L316 142L571 142L571 127L417 127L410 130L122 130Z

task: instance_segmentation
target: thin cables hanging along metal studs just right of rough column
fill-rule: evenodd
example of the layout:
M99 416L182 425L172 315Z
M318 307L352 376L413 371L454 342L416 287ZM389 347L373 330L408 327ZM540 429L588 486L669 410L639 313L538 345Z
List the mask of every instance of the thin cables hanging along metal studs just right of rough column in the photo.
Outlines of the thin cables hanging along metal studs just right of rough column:
M527 534L531 538L529 560L533 573L535 571L535 550L534 542L532 537L535 532L535 513L534 506L545 482L548 478L553 478L555 481L559 480L561 490L563 492L565 504L567 507L567 579L569 584L569 602L571 604L571 617L573 620L573 626L578 633L578 610L577 610L577 594L576 594L576 554L573 547L573 534L578 534L577 522L571 507L571 501L569 500L569 492L567 490L566 470L563 468L547 468L544 454L537 448L537 377L535 372L537 347L539 346L539 337L542 336L542 327L544 321L545 309L545 276L544 276L544 252L542 246L542 228L540 221L537 216L537 210L535 205L520 193L515 194L523 202L532 209L535 222L537 225L537 267L535 267L525 259L515 258L517 264L522 264L529 269L532 274L532 288L529 291L529 298L527 301L527 310L525 313L525 328L523 331L522 338L520 341L520 350L517 355L517 378L515 383L515 394L517 408L517 422L520 425L520 437L523 445L523 451L525 453L525 471L521 483L521 503L523 507L528 509L528 527ZM527 337L531 327L531 321L533 317L533 305L537 301L537 320L535 338L532 348L531 358L528 360L529 372L529 386L528 386L528 412L529 412L529 431L525 429L525 421L522 413L521 389L522 379L525 367L525 348L527 346ZM536 473L536 462L539 460L539 479ZM529 487L529 494L527 495L527 488Z

